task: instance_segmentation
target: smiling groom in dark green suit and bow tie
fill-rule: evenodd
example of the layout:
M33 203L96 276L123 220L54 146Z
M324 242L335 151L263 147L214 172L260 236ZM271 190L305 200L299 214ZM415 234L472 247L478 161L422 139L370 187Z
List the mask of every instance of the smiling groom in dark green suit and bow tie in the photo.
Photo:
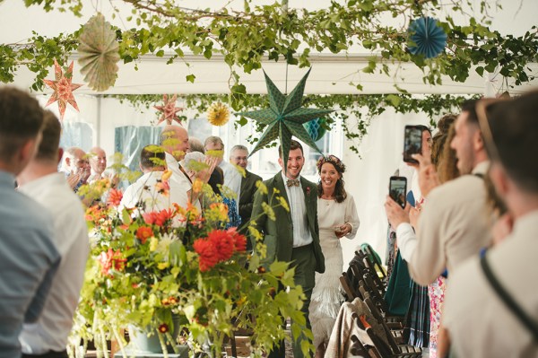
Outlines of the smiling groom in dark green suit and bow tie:
M254 198L252 219L256 220L256 229L264 234L264 243L267 255L262 260L263 266L269 266L274 260L290 262L295 267L295 284L300 285L306 299L302 311L308 320L308 306L310 296L315 284L315 271L325 272L325 258L319 245L319 229L317 227L317 187L316 184L300 177L300 170L305 162L303 150L299 142L292 140L287 166L282 160L282 148L279 148L278 162L282 171L272 179L264 181L267 193L257 190ZM286 210L274 198L273 190L277 189L280 195L290 206ZM264 212L263 204L273 207L275 220L271 220ZM256 249L256 242L253 240ZM293 343L295 358L303 357L300 336ZM281 342L269 357L285 357L284 343Z

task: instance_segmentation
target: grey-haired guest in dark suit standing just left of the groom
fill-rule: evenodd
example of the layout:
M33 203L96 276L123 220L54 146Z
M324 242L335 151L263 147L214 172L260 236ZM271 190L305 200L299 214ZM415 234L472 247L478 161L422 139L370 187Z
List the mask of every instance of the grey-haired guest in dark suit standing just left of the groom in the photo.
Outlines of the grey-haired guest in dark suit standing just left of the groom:
M250 214L252 214L252 205L254 204L254 194L256 193L256 181L262 178L247 170L248 149L245 145L234 145L230 152L230 163L237 165L245 170L245 176L241 178L241 188L239 190L239 216L243 228L242 234L247 234ZM247 250L251 250L250 241L247 242Z

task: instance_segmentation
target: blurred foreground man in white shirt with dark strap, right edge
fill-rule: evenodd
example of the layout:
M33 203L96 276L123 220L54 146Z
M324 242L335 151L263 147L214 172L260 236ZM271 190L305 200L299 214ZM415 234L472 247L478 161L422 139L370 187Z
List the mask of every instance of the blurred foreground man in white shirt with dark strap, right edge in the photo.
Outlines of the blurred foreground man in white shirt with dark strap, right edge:
M450 274L443 325L457 357L538 357L538 92L516 100L482 100L477 110L488 153L490 178L515 220L511 234ZM508 293L519 316L486 278ZM525 325L522 317L530 322ZM534 324L534 327L533 327Z

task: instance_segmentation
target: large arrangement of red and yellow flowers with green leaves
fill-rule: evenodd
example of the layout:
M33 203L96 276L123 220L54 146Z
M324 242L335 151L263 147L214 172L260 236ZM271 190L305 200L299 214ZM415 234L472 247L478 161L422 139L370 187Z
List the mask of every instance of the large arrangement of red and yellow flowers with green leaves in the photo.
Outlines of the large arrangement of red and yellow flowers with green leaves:
M168 176L165 171L158 182L164 195ZM193 186L208 189L196 181ZM123 193L110 188L107 179L87 190L103 191L106 202L86 211L91 258L75 317L76 345L81 337L93 339L106 356L106 341L115 340L126 356L120 332L135 327L157 335L165 355L167 345L175 349L178 334L192 354L207 343L219 353L225 336L241 327L254 332L253 354L262 356L285 336L282 316L293 319L295 336L307 330L300 312L304 295L293 283L293 270L282 262L267 270L258 266L258 254L246 252L247 238L237 228L224 229L227 205L213 197L203 210L189 204L144 211L122 208ZM282 197L274 196L274 203L282 205ZM253 227L249 230L261 241ZM290 289L275 291L279 285ZM180 332L173 332L176 322Z

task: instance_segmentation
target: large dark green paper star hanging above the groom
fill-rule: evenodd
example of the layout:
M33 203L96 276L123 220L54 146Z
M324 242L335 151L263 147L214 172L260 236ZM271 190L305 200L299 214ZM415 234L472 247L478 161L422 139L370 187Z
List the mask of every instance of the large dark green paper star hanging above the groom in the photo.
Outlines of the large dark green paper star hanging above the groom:
M280 138L284 168L287 168L292 135L295 135L299 140L321 153L321 150L317 147L312 137L308 135L303 124L311 119L331 113L333 109L301 108L305 84L310 70L311 68L288 95L282 94L264 71L267 93L269 94L269 108L236 113L238 116L251 118L268 125L250 155L265 147L266 144L273 142L276 138Z

